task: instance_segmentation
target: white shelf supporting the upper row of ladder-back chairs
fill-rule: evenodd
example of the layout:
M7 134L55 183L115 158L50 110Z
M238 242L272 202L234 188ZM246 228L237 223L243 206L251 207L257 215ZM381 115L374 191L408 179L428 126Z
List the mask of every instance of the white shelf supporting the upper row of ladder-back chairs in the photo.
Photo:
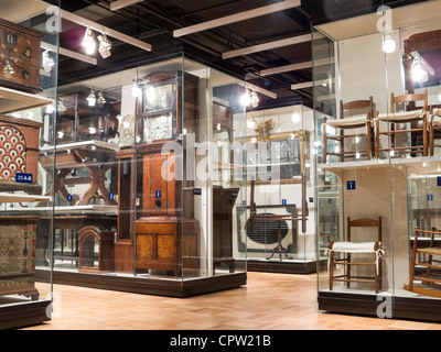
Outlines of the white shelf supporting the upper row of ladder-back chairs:
M318 169L340 175L347 170L367 170L370 168L388 168L404 166L411 168L411 174L441 174L439 156L402 157L392 160L356 161L333 164L319 164Z

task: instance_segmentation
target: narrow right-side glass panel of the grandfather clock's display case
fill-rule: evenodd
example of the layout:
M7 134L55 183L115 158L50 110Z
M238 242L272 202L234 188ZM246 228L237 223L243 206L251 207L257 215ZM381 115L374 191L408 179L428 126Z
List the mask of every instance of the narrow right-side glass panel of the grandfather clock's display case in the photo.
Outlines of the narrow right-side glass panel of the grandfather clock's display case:
M187 213L185 221L187 227L196 224L198 233L197 241L193 242L191 235L184 240L186 251L197 245L197 257L184 262L184 277L243 273L246 241L241 242L239 233L245 223L241 207L246 202L240 153L245 108L238 105L237 96L241 82L190 59L185 59L185 75L196 77L198 87L197 94L191 90L193 82L185 88L185 103L197 108L197 121L193 121L191 109L184 116L184 198L193 201L193 212ZM195 101L189 100L194 96Z

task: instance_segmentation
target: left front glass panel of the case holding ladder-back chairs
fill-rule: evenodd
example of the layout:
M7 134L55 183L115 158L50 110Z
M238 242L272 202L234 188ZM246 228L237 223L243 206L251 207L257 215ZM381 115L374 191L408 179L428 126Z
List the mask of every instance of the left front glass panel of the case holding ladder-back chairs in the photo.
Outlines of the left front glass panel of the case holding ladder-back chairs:
M366 28L376 29L376 18L364 20ZM334 23L318 30L313 57L319 292L384 295L394 288L392 257L385 253L392 251L396 232L390 187L396 187L398 175L389 172L389 154L376 154L374 124L378 113L387 112L388 89L396 84L386 82L386 74L391 77L397 69L392 72L381 51L383 33L351 36ZM388 148L386 134L379 142Z

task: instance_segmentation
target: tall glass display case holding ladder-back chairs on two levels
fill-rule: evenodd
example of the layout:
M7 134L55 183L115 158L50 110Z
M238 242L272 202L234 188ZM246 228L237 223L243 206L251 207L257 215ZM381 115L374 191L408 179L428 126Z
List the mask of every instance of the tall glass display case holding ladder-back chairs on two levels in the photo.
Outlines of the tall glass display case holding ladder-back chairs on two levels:
M314 22L319 309L439 321L440 9Z

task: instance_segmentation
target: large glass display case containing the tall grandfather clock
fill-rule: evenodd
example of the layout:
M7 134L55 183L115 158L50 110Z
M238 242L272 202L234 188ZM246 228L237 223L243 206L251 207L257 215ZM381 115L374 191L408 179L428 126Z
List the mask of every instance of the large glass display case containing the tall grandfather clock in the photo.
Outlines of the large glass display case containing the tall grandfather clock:
M173 297L246 284L238 89L183 53L58 86L55 283Z

